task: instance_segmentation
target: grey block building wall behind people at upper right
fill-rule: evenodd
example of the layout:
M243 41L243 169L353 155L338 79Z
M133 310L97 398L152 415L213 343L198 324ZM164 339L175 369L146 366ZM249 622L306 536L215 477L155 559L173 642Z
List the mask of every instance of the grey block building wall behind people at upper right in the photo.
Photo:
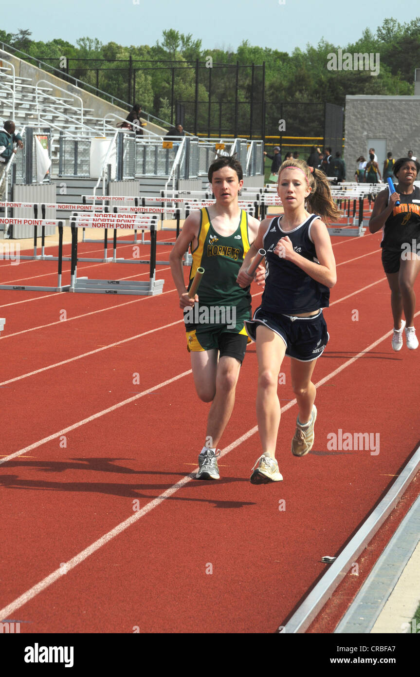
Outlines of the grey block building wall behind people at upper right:
M344 159L347 180L352 181L356 159L368 160L368 139L386 139L386 152L395 159L409 149L420 156L420 96L346 96ZM376 150L376 148L375 148ZM379 160L379 169L383 162Z

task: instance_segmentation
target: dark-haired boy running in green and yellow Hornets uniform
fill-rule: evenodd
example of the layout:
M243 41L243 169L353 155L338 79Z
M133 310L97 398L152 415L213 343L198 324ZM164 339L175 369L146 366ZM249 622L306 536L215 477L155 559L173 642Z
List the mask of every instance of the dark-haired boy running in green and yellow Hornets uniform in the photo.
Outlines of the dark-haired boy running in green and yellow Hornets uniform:
M179 306L184 309L195 389L202 401L212 403L206 443L198 457L197 479L220 477L216 449L231 417L248 341L243 322L251 317L250 287L239 287L236 278L256 238L260 221L239 209L242 175L241 165L234 156L214 160L208 170L208 180L216 204L197 209L185 219L169 257ZM197 268L205 270L194 299L188 297L182 264L190 245L193 264L188 288ZM265 267L260 265L255 277L258 284L264 284L264 276Z

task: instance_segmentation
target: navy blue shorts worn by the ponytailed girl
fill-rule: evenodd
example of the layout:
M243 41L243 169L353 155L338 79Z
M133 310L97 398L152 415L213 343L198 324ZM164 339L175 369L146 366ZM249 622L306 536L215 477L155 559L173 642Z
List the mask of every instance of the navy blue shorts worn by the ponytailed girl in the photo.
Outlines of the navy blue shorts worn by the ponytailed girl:
M252 341L256 340L258 324L279 334L286 346L286 355L299 362L312 362L322 355L328 340L327 323L322 310L312 318L296 318L281 313L269 313L258 307L252 320L246 320L245 326Z

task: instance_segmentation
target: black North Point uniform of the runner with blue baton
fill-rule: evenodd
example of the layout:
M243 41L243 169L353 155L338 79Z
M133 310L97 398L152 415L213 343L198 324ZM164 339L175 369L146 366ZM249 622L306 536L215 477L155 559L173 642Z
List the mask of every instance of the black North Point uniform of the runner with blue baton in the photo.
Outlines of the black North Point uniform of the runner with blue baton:
M398 186L396 188L398 191ZM388 206L388 198L386 200ZM414 186L409 195L400 193L400 204L383 225L381 240L382 264L386 273L398 273L401 256L420 253L420 188Z

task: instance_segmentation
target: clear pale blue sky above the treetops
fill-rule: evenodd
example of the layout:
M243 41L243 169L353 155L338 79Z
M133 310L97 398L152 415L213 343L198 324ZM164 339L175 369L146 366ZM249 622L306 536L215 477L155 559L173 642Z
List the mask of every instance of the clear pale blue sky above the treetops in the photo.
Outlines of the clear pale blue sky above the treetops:
M139 4L134 4L134 2ZM92 37L102 43L154 45L162 30L174 28L201 39L205 49L235 50L252 45L291 52L325 37L335 45L375 32L384 18L400 23L420 16L415 0L19 0L7 2L0 28L29 28L32 39L62 38L75 43Z

